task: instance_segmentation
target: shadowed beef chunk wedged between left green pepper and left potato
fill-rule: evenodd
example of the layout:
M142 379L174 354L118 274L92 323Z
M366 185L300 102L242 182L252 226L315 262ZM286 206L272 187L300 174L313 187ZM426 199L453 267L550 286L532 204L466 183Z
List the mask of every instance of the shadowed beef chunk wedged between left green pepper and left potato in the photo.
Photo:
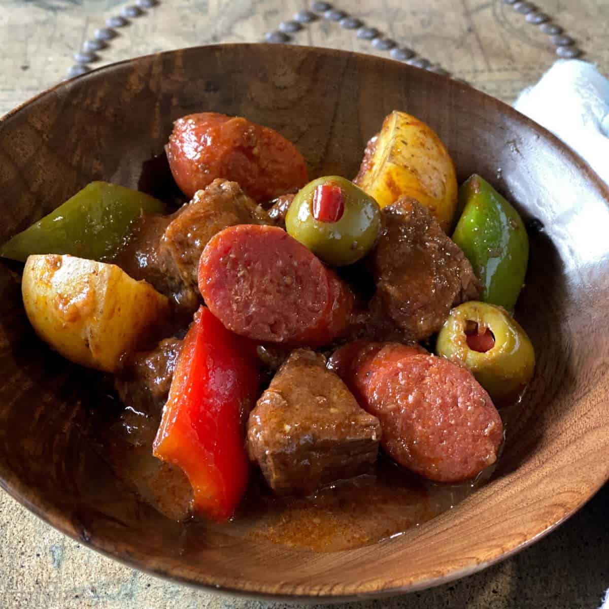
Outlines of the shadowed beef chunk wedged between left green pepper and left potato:
M192 317L200 304L199 291L183 280L174 259L161 245L163 233L179 213L141 217L115 262L127 275L138 281L147 281L172 300L186 316Z

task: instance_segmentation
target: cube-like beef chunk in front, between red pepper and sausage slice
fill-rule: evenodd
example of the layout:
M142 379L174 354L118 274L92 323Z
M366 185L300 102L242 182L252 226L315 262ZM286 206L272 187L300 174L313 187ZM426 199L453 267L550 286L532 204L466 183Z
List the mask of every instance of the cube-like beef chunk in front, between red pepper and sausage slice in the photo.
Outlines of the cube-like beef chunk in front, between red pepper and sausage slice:
M252 410L247 446L273 491L306 494L367 471L380 438L378 419L358 406L325 357L298 349Z

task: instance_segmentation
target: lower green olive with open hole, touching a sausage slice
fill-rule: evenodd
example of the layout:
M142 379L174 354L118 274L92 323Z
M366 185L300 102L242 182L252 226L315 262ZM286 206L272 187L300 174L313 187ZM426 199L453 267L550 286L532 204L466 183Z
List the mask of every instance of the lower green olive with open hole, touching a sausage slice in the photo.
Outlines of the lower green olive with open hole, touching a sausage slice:
M483 338L490 336L487 331L492 333L490 340ZM535 351L527 333L505 309L489 303L470 301L452 309L435 351L469 368L498 403L516 398L535 370Z

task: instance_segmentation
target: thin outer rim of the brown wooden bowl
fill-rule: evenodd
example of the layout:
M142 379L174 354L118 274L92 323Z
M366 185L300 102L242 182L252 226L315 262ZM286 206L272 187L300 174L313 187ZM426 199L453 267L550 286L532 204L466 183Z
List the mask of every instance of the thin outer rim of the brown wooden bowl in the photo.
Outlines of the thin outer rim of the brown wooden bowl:
M147 55L139 55L138 57L132 57L125 60L121 60L120 62L110 63L105 66L100 66L99 68L93 69L90 72L85 72L85 74L81 74L76 77L72 77L71 79L63 80L62 82L57 83L49 87L48 89L41 91L30 99L27 99L23 103L19 104L3 116L0 116L0 135L2 132L2 127L7 123L13 116L16 116L21 110L29 107L31 104L37 102L37 100L42 99L43 97L53 95L57 91L67 90L72 86L74 82L82 82L87 79L96 79L99 76L102 76L105 72L111 72L115 69L121 68L122 66L126 66L129 64L134 64L138 62L146 62L153 60L154 58L162 58L167 55L172 55L175 53L183 53L183 52L199 52L202 49L213 51L214 49L221 52L221 49L238 49L238 48L248 48L248 47L262 47L262 48L276 48L277 44L271 43L218 43L218 44L203 44L199 46L190 46L180 49L171 49L169 51L161 51L157 53L151 53ZM585 177L594 183L596 188L600 191L605 199L605 204L609 208L609 185L605 184L603 180L599 177L598 174L591 168L591 166L580 157L574 150L571 149L567 144L565 144L560 138L554 135L554 133L547 130L545 127L541 126L537 122L530 119L525 114L515 110L509 104L502 102L496 97L490 96L487 93L484 93L481 90L474 88L462 80L453 79L450 76L446 76L444 74L437 74L436 72L432 72L426 69L416 68L415 66L407 65L406 63L399 62L396 60L392 60L390 58L378 57L376 55L370 55L365 53L359 53L355 51L343 51L342 49L331 49L331 48L323 48L323 47L315 47L308 45L300 45L300 44L281 44L282 48L289 49L288 52L293 52L295 49L308 49L309 51L315 51L319 54L326 55L342 55L342 56L353 56L356 55L359 60L370 63L390 63L392 65L400 65L403 71L410 72L410 74L416 75L418 77L421 74L426 74L425 78L430 80L435 80L437 83L446 83L452 82L456 83L462 91L468 91L468 94L473 95L474 97L478 97L479 99L484 99L485 103L493 105L496 111L500 114L508 114L511 115L512 118L515 118L520 124L524 124L531 128L533 131L540 133L544 136L544 138L548 139L557 149L561 151L565 157L568 158L569 163L572 164L578 171L585 174ZM418 580L416 582L404 582L400 585L394 585L387 588L374 588L370 586L367 590L353 593L341 593L341 594L315 594L315 593L275 593L272 591L263 591L260 588L250 588L248 586L241 587L231 587L231 586L222 586L219 584L214 584L209 580L209 582L201 582L194 579L189 578L186 575L179 575L175 573L171 573L168 570L164 570L162 566L150 566L146 564L145 555L140 554L138 551L131 552L129 555L119 555L116 551L113 551L113 544L109 542L104 537L94 537L90 538L88 533L85 530L77 529L77 526L74 522L69 519L68 516L65 515L64 512L55 509L53 505L50 505L48 502L44 501L43 498L38 497L35 493L32 492L30 487L26 484L23 484L16 477L14 477L12 482L7 481L6 479L0 477L0 488L6 491L13 499L19 502L19 504L26 507L30 512L32 512L35 516L40 518L44 523L50 524L54 529L62 532L68 537L72 538L75 541L83 544L85 547L89 549L93 549L99 554L104 555L105 557L111 558L113 560L119 561L123 565L129 566L133 569L138 569L139 571L146 572L155 577L159 577L169 582L180 583L182 585L188 585L192 588L197 588L200 590L206 590L210 593L222 594L225 596L238 596L245 597L249 599L257 599L257 600L269 600L273 602L290 602L290 603L300 603L300 604L313 604L313 603L340 603L340 602L350 602L357 600L367 600L367 599L381 599L383 597L396 596L400 594L426 590L428 588L433 588L435 586L440 586L445 583L452 582L454 580L460 579L462 577L470 576L478 571L482 571L496 563L499 563L518 552L526 549L536 541L545 537L548 533L551 533L554 529L556 529L561 524L565 523L571 516L573 516L576 512L578 512L590 499L596 495L597 491L600 490L602 486L604 486L607 482L609 482L609 470L605 474L605 476L600 476L596 481L596 484L590 491L587 496L579 496L576 501L572 502L569 505L568 512L565 513L560 519L551 523L545 527L541 527L534 532L530 532L530 535L527 535L527 538L523 541L519 541L518 543L514 543L511 547L509 547L505 551L497 551L495 555L488 558L485 561L471 561L470 564L463 566L459 569L453 569L452 571L447 571L444 574L440 574L437 576L429 577L427 579ZM468 500L464 503L466 503ZM144 559L144 560L143 560Z

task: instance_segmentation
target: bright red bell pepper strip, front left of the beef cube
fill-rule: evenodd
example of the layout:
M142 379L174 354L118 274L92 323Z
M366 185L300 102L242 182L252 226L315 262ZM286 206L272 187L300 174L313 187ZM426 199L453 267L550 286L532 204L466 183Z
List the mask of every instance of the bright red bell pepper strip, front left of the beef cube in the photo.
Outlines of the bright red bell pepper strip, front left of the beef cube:
M242 413L258 392L254 349L201 307L184 339L153 443L155 457L188 476L194 511L218 522L233 515L247 486Z

